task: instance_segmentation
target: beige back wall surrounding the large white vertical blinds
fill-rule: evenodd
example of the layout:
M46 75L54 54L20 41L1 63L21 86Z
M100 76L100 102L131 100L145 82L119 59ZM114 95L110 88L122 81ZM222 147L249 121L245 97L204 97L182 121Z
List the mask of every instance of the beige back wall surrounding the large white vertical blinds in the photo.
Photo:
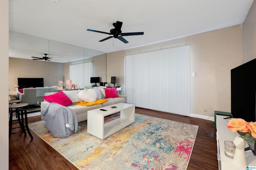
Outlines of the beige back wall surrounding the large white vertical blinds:
M242 25L108 53L107 79L123 76L122 55L183 44L190 44L190 72L196 73L190 78L190 112L210 117L214 110L230 112L230 70L242 64Z

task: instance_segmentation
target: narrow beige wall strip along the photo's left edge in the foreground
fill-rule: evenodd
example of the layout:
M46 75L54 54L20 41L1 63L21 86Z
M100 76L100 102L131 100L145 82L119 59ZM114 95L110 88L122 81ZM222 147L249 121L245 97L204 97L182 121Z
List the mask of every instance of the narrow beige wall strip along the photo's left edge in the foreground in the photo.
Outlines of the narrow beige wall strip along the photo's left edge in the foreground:
M9 167L9 135L8 135L8 0L0 0L0 108L1 108L1 123L0 123L0 165L1 170L8 170Z

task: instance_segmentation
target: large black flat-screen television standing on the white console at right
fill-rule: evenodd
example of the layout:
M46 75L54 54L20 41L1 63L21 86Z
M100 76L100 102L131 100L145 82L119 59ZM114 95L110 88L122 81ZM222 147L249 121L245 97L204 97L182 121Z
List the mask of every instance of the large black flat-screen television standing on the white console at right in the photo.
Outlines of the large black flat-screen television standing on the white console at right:
M231 114L247 122L256 121L256 59L231 70ZM256 155L255 143L249 146Z

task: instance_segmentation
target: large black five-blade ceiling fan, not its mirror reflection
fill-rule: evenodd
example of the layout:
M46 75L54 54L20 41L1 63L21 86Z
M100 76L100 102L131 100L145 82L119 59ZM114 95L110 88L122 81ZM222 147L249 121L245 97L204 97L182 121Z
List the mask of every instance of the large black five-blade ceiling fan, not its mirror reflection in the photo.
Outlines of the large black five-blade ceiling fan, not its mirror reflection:
M92 29L87 29L87 31L93 31L93 32L97 32L97 33L104 33L104 34L108 34L108 35L113 35L113 36L109 36L106 37L102 40L100 40L99 42L105 41L107 39L110 39L112 37L119 39L120 41L124 42L124 43L128 43L128 41L126 39L123 38L123 36L129 36L129 35L143 35L144 32L135 32L135 33L122 33L121 31L121 27L122 27L122 22L120 21L116 21L116 23L113 23L113 26L115 28L110 29L110 33L107 32L102 32L102 31L96 31L96 30L92 30Z

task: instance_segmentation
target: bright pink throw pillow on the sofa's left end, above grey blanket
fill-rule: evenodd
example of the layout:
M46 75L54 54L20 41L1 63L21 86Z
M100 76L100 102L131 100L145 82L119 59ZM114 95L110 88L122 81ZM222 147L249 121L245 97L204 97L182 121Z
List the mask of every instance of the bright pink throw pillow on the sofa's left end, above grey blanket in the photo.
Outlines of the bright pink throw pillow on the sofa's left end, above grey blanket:
M68 106L72 104L71 99L62 91L51 94L49 96L43 96L44 100L50 103L58 103L62 106Z

